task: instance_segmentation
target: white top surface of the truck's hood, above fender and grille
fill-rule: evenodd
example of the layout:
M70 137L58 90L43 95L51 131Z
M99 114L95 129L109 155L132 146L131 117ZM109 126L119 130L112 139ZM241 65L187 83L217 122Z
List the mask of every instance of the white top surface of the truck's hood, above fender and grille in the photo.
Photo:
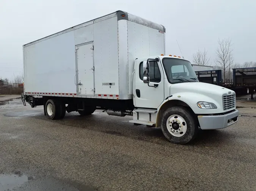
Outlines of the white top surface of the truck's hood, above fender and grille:
M201 94L223 95L234 94L235 92L228 88L203 82L182 82L172 84L170 95L176 92L196 92ZM211 96L212 97L212 96Z

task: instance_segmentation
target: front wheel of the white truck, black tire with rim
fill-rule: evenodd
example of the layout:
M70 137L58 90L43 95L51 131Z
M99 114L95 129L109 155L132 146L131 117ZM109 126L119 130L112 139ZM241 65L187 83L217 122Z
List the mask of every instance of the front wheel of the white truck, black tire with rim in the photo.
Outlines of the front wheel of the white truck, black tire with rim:
M168 127L167 124L169 124ZM195 139L198 133L198 126L196 125L195 119L182 106L174 106L166 109L162 117L161 129L164 136L170 142L176 144L186 144Z

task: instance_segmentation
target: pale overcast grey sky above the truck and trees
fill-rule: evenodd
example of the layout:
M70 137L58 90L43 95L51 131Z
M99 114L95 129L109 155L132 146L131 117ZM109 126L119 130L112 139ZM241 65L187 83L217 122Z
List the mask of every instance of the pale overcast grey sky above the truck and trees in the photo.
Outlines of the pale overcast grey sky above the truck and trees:
M23 69L22 45L122 10L166 28L166 54L192 62L198 49L214 65L218 38L231 38L234 62L256 62L253 0L0 0L0 78Z

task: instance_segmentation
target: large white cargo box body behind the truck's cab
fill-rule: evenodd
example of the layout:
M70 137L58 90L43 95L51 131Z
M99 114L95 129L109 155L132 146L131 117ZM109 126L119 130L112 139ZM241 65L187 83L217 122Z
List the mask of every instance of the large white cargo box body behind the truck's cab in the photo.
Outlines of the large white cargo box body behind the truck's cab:
M165 28L117 11L23 51L26 95L132 99L134 60L165 54Z

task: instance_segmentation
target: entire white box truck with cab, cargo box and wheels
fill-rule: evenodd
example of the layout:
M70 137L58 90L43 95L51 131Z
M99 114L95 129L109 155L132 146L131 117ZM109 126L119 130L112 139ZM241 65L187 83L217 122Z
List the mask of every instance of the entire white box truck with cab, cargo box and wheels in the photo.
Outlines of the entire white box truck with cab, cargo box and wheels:
M96 18L23 46L24 93L49 119L103 109L133 116L135 125L161 127L185 144L198 128L238 120L236 94L200 83L188 60L165 55L165 28L124 11Z

